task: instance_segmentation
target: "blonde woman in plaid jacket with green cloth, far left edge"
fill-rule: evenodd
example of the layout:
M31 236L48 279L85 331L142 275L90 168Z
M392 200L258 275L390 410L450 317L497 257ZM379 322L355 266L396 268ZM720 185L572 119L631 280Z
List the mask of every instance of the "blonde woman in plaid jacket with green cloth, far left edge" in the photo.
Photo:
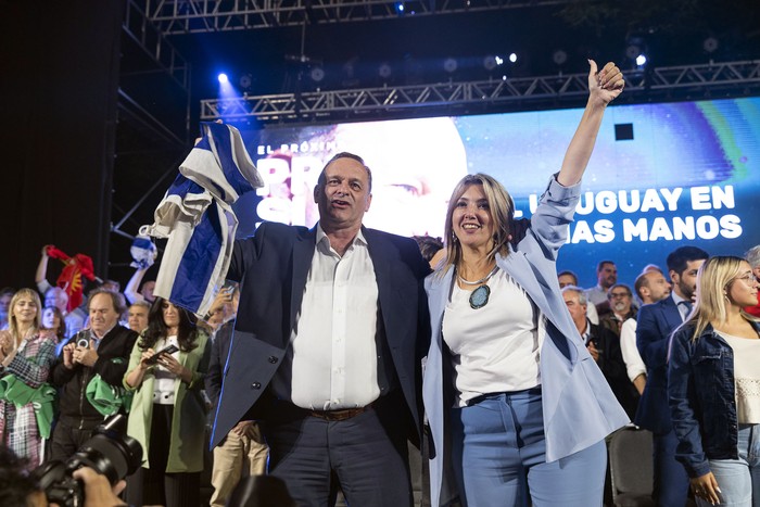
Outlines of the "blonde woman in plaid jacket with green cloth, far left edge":
M55 342L39 330L40 306L37 292L21 289L11 299L9 329L0 331L0 441L30 466L39 465L42 436L50 431L50 420L47 431L38 424L35 404L43 401L43 384L55 362ZM53 394L48 393L51 417Z

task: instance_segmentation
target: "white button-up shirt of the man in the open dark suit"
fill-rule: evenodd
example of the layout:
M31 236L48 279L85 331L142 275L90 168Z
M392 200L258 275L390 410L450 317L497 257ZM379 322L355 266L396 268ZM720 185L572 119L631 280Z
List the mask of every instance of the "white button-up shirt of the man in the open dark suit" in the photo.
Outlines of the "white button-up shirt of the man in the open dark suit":
M362 231L343 257L321 226L316 241L291 346L273 388L302 408L363 407L380 395L375 267Z

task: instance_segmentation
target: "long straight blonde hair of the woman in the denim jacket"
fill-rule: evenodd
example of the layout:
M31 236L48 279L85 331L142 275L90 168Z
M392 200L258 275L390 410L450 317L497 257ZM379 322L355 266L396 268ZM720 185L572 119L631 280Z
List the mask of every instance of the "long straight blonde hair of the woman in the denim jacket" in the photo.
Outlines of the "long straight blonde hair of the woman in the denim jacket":
M734 255L717 255L710 257L697 271L697 302L682 326L693 326L696 340L710 322L725 322L729 319L729 307L733 304L726 295L736 277L742 275L742 264L746 263L742 257ZM747 320L758 320L747 314L744 308L742 315Z

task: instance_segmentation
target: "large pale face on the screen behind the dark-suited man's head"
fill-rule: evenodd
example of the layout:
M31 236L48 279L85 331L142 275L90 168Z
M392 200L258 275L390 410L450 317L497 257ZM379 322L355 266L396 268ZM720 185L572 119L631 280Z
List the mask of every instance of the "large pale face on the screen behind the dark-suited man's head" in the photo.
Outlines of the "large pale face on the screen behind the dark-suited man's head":
M311 195L317 175L335 153L350 152L372 170L372 206L364 225L402 236L442 236L448 198L467 174L454 119L342 124L299 140L301 144L257 161L267 181L259 191L265 195L257 206L259 218L314 226L319 208Z

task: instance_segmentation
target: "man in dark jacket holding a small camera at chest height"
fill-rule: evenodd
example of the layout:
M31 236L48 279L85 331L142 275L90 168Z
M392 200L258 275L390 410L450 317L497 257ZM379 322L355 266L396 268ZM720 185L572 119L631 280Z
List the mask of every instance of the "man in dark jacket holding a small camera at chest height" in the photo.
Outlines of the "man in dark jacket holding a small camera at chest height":
M61 415L52 435L51 459L65 460L92 436L103 415L89 402L87 386L99 375L121 386L137 333L118 324L124 296L98 288L88 299L90 329L69 339L53 367L51 381L61 388Z

